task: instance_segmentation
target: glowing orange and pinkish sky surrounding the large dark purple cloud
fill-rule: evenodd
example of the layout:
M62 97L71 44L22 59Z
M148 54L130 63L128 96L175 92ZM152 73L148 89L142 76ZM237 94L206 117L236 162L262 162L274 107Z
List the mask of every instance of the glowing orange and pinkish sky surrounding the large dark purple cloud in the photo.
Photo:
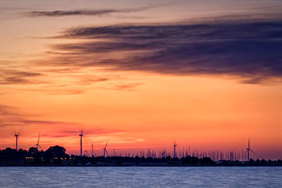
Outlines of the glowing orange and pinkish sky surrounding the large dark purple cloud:
M126 1L121 4L113 1L108 4L57 2L32 4L33 1L28 1L22 4L20 1L3 1L4 11L0 17L1 25L4 25L0 31L0 149L15 146L15 131L20 132L20 148L28 149L36 144L40 132L43 149L59 144L66 147L67 153L78 154L78 134L84 130L84 150L90 151L94 142L98 154L102 154L107 139L109 151L114 148L119 152L172 150L173 142L178 144L178 149L190 146L202 151L241 151L247 147L250 137L251 148L257 153L254 158L282 157L281 75L267 75L263 82L250 83L245 80L254 80L257 74L255 78L245 72L219 74L191 73L189 70L189 73L174 74L170 72L171 68L165 69L165 65L161 67L163 72L155 69L154 66L159 65L154 64L157 62L139 69L139 64L134 68L134 63L140 59L131 58L130 54L134 46L125 46L121 51L86 52L77 56L73 54L81 49L75 51L69 46L56 45L78 46L78 43L88 45L87 42L92 42L98 49L93 46L91 49L99 50L99 42L104 39L54 37L62 35L68 28L85 25L151 25L173 20L189 22L188 18L195 22L209 15L244 13L252 7L250 2L239 1L235 8L233 4L221 4L224 11L212 4L204 6L204 1L198 4L192 1L164 1L161 4L149 1L131 4ZM266 4L266 1L262 3ZM271 1L274 6L279 3ZM71 17L27 15L31 11L138 7L151 8ZM261 10L259 8L257 11ZM192 11L188 11L190 9ZM164 19L168 10L171 10L170 16ZM111 40L114 39L105 39ZM145 54L153 51L134 49L140 54L143 50ZM128 61L124 61L125 57ZM114 58L118 59L116 63L98 63L98 60ZM97 60L94 65L85 65L93 60ZM126 64L130 68L122 67L119 60L130 62ZM266 75L262 73L262 76Z

